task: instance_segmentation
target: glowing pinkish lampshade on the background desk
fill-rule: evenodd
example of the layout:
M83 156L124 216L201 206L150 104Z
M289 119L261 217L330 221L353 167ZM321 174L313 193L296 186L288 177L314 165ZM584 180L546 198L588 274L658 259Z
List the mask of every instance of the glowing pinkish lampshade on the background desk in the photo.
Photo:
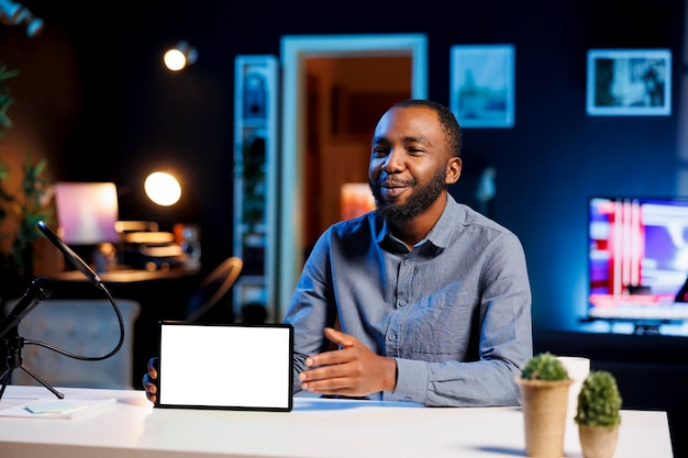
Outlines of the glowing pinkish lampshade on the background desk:
M57 232L67 245L116 243L116 187L111 182L55 183Z

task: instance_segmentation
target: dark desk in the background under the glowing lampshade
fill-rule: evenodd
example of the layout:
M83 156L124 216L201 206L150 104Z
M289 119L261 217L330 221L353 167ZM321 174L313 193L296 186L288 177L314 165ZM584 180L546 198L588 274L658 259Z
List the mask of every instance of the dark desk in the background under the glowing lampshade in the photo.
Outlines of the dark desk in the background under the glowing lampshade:
M132 387L141 387L148 358L157 355L160 320L182 320L188 299L199 288L199 270L114 270L99 275L115 299L133 299L141 304L134 324ZM80 271L48 276L52 299L107 299ZM30 364L30 361L27 361Z

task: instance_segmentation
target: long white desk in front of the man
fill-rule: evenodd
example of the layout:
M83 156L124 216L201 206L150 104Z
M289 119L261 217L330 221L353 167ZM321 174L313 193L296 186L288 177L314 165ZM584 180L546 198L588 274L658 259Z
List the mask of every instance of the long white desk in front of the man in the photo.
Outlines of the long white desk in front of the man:
M520 407L296 398L292 412L154 409L143 391L60 388L66 399L116 398L74 420L0 417L2 458L80 457L514 457L524 456ZM52 394L9 386L0 409ZM581 457L566 427L566 457ZM665 412L622 411L614 458L673 458Z

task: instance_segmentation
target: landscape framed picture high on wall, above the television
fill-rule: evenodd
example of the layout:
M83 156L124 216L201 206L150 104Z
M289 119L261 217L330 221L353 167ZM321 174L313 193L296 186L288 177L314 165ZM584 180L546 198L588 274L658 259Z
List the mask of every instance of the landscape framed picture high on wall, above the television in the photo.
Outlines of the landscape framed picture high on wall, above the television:
M589 49L589 115L672 114L669 49Z

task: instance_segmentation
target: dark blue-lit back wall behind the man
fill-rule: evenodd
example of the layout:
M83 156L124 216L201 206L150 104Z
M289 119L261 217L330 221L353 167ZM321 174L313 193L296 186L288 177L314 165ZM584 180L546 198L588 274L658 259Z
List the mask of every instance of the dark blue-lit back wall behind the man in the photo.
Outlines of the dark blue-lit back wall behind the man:
M200 223L203 266L232 253L234 58L279 56L286 34L424 33L429 96L444 103L452 45L515 46L515 125L465 130L464 178L453 193L474 203L476 177L486 165L496 168L492 216L524 244L539 328L575 329L585 313L588 196L677 192L677 172L687 167L677 146L686 89L675 83L670 116L588 116L586 53L670 48L678 82L683 0L425 1L412 8L354 1L335 13L312 1L269 11L263 2L234 3L147 1L96 13L79 2L26 0L46 21L44 33L25 38L0 27L0 59L12 57L8 64L23 67L23 78L54 87L42 107L54 119L35 135L56 138L44 147L57 177L118 182L125 219ZM182 38L199 59L171 75L160 55ZM38 75L26 75L32 69ZM21 85L24 103L38 103L26 100L27 82ZM73 97L55 100L65 86ZM66 119L55 109L60 103L69 107ZM141 196L143 176L159 166L184 177L187 193L174 215L151 210Z

